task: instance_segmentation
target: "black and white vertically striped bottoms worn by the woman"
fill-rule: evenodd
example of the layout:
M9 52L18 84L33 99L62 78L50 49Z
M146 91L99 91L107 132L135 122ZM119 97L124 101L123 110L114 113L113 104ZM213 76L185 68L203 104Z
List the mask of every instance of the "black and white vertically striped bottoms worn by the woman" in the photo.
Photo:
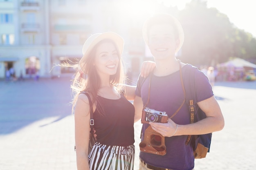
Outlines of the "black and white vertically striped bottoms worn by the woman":
M133 170L135 147L95 143L88 156L90 170Z

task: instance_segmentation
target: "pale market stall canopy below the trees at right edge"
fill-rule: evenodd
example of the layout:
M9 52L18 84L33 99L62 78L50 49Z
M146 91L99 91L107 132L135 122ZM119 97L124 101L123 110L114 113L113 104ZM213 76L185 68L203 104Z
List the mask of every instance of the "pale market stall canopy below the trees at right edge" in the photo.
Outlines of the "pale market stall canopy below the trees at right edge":
M253 64L253 63L243 60L241 58L235 58L234 60L230 60L228 62L221 63L220 66L235 67L235 68L243 68L243 67L256 68L256 64Z

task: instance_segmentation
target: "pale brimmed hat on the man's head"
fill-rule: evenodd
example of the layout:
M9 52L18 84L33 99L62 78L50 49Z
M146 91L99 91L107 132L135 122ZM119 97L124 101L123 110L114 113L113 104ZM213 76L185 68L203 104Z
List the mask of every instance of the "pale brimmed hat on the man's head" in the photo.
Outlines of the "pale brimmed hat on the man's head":
M145 41L145 43L148 45L148 24L150 22L152 22L152 19L153 18L161 18L161 19L165 19L165 20L168 20L168 21L172 21L174 26L176 26L176 29L177 29L177 32L178 32L178 38L180 40L180 44L179 46L177 46L177 49L176 49L176 53L180 50L183 42L184 42L184 32L183 32L183 29L182 29L182 26L180 24L180 22L173 16L173 15L170 15L170 14L167 14L167 13L156 13L155 15L151 16L150 18L148 18L145 22L144 22L144 25L142 27L142 36L143 36L143 39Z

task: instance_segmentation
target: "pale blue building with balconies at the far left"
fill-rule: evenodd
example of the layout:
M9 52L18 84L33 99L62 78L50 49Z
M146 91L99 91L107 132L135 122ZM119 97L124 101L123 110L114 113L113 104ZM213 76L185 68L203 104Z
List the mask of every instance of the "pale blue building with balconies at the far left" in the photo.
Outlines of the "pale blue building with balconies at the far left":
M13 68L16 77L50 77L47 0L0 0L0 78Z

